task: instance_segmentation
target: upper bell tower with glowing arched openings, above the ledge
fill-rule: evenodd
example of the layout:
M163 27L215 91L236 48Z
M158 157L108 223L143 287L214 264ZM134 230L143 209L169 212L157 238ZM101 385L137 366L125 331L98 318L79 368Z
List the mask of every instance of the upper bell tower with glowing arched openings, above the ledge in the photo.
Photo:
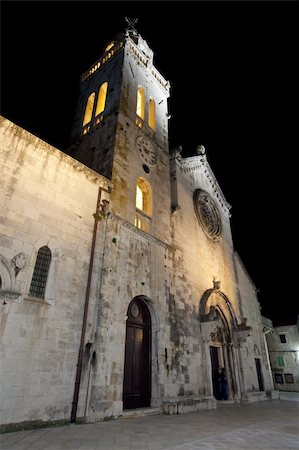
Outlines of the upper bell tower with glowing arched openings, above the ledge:
M170 86L153 56L134 28L109 43L82 75L71 136L72 156L112 180L113 212L147 233L171 211Z

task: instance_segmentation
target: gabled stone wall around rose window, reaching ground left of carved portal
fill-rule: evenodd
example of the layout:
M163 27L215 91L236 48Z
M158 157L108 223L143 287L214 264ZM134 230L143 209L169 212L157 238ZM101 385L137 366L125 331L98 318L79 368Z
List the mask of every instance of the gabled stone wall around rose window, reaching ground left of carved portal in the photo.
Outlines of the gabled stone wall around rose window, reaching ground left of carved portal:
M197 158L189 160L196 162ZM213 287L213 281L220 280L221 289L235 301L232 244L229 219L224 212L219 240L214 242L203 232L195 215L193 194L200 188L213 196L213 190L199 166L189 170L184 164L182 160L177 164L174 180L177 207L172 214L172 235L176 251L169 308L170 345L175 355L172 370L177 380L169 395L210 395L210 356L206 354L200 328L200 299Z

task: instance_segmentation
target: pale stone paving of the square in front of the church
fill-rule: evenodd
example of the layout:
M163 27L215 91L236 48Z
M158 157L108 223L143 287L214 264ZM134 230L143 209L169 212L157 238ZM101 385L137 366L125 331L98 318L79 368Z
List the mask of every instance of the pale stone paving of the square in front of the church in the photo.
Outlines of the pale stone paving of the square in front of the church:
M299 449L299 403L266 401L1 435L1 450Z

